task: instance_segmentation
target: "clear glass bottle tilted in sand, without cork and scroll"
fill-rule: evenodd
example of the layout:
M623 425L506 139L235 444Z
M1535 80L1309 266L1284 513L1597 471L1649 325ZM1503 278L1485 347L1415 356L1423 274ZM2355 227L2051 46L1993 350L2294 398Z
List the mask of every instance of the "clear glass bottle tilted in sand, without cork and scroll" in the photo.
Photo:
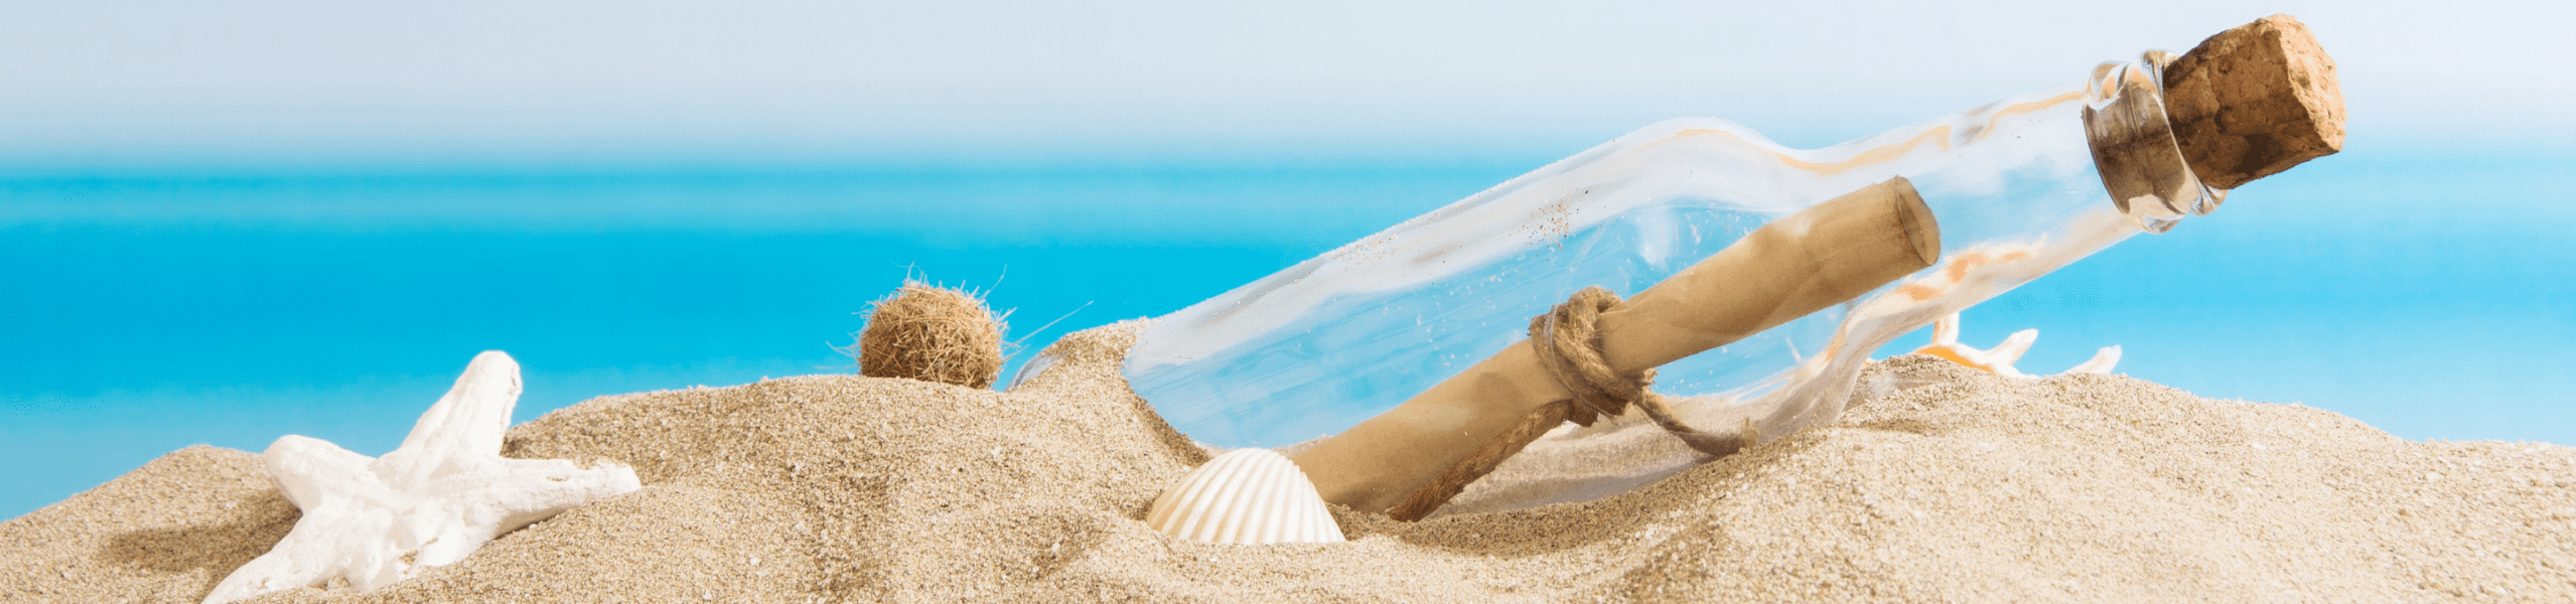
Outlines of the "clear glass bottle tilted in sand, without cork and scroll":
M1788 149L1728 121L1664 121L1162 316L1128 352L1126 378L1211 445L1316 440L1520 342L1528 316L1579 288L1636 293L1780 216L1911 180L1940 229L1935 265L1767 332L1731 334L1731 344L1662 365L1656 378L1695 427L1819 427L1842 411L1880 344L2221 203L2226 190L2202 182L2177 147L2161 82L2172 59L2151 51L2063 87L1826 149ZM2331 62L2324 69L2331 90ZM2226 185L2249 180L2233 172ZM1605 496L1705 460L1672 440L1620 437L1638 424L1558 429L1530 452L1662 455L1623 452L1620 468L1592 465L1548 493L1497 501Z

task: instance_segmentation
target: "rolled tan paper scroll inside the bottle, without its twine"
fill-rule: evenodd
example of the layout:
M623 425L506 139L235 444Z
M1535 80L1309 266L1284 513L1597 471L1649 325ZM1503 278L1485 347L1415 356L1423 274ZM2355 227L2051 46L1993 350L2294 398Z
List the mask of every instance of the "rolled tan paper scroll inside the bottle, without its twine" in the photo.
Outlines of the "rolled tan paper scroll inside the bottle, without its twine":
M1911 182L1893 177L1770 221L1602 314L1605 360L1628 373L1698 355L1850 301L1937 257L1932 211ZM1445 501L1455 486L1492 470L1492 460L1546 432L1525 424L1553 427L1548 406L1571 396L1530 342L1517 342L1316 442L1296 465L1324 501L1352 509L1388 511L1432 486L1450 488L1435 496ZM1525 422L1533 414L1540 419Z

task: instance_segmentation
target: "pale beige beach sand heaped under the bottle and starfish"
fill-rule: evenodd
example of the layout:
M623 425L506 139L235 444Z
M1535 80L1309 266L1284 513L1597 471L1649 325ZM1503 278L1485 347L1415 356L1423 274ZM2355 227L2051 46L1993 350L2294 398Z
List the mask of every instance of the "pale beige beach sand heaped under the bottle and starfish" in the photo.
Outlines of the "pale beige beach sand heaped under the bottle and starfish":
M1623 496L1175 542L1146 504L1206 452L1118 378L1133 326L1010 393L806 375L559 409L507 455L623 460L644 491L258 601L2576 601L2571 447L1935 357ZM252 452L178 450L0 522L0 601L198 601L294 519Z

